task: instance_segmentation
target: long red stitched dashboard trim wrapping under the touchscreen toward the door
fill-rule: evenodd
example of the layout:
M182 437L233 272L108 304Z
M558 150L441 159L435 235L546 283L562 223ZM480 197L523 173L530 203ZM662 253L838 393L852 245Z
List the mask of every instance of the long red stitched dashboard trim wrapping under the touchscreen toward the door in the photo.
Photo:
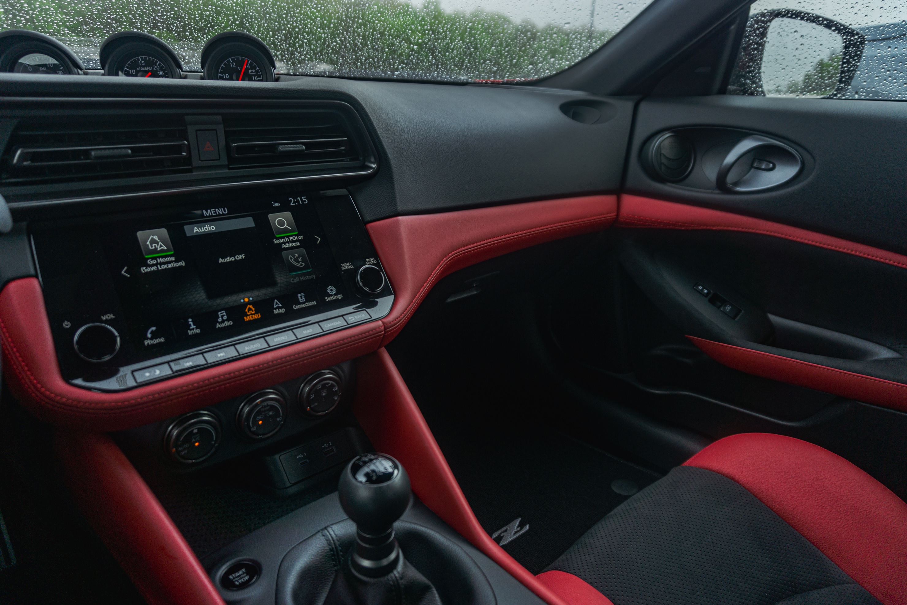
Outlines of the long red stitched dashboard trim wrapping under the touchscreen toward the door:
M148 424L373 352L395 337L445 275L516 249L604 229L616 216L617 197L604 195L371 223L368 231L396 295L384 320L124 393L96 393L63 380L41 287L35 278L18 279L0 292L6 376L16 397L46 422L94 431Z

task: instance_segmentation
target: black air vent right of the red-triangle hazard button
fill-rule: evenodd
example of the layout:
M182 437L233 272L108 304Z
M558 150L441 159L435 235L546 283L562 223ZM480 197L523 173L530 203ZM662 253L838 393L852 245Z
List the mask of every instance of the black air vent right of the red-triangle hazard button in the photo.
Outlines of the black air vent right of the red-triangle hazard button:
M361 161L345 124L333 113L304 122L225 120L228 165L231 169Z

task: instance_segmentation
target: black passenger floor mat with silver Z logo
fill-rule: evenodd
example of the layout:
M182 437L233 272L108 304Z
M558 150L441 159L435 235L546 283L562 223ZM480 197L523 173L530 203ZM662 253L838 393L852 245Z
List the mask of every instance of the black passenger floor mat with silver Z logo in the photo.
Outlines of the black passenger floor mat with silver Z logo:
M658 479L656 473L538 426L509 424L485 432L429 424L485 531L503 530L498 542L516 535L503 549L532 573L544 570L602 517Z

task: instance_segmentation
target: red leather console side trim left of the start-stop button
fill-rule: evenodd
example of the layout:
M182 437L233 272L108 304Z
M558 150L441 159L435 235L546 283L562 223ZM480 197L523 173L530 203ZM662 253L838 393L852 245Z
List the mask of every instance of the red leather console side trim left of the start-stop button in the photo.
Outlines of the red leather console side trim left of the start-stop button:
M58 431L79 508L151 605L224 605L218 590L120 448L106 434Z

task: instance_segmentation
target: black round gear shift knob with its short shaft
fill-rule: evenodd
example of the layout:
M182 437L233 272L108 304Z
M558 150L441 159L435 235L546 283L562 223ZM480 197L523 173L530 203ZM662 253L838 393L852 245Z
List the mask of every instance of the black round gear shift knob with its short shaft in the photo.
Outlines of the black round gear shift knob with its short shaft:
M358 456L340 475L337 491L344 512L356 522L353 569L372 578L394 571L400 557L394 522L410 499L403 465L385 454Z

